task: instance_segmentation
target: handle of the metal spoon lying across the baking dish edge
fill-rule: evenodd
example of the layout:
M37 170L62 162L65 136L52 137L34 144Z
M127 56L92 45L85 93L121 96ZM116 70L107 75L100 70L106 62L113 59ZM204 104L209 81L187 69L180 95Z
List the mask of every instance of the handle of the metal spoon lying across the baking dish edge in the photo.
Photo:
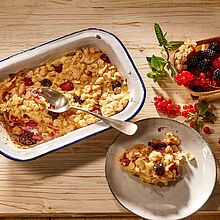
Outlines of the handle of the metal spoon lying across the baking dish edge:
M113 128L117 129L118 131L120 131L124 134L127 134L127 135L135 134L135 132L138 129L138 126L134 123L131 123L131 122L121 121L121 120L118 120L118 119L104 117L102 115L96 114L94 112L91 112L91 111L88 111L86 109L82 109L82 108L79 108L79 107L76 107L76 106L70 106L70 108L74 108L74 109L89 113L89 114L101 119L106 124L112 126Z

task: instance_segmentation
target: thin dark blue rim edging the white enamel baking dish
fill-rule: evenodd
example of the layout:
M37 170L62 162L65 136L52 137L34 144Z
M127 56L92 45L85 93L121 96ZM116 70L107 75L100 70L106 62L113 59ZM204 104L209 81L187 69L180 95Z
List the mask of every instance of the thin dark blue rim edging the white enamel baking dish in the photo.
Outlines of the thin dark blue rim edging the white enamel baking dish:
M107 33L107 34L113 36L113 37L119 42L119 44L122 46L122 48L124 49L124 51L125 51L125 53L126 53L128 59L129 59L129 61L131 62L132 66L133 66L133 68L134 68L134 70L135 70L135 72L136 72L136 74L137 74L137 76L138 76L138 78L139 78L139 80L140 80L140 83L141 83L142 89L143 89L143 99L142 99L142 101L141 101L141 103L140 103L139 108L136 110L136 112L134 112L133 115L131 115L129 118L127 118L127 119L125 120L125 121L129 121L131 118L133 118L134 116L136 116L136 115L138 114L138 112L141 110L141 108L143 107L144 102L145 102L145 100L146 100L146 87L145 87L145 85L144 85L144 82L143 82L143 80L142 80L142 78L141 78L141 76L140 76L140 74L139 74L139 72L138 72L138 70L137 70L137 68L136 68L136 66L135 66L135 64L134 64L134 62L133 62L133 60L132 60L132 58L131 58L129 52L128 52L128 50L127 50L127 48L126 48L125 45L122 43L122 41L121 41L116 35L114 35L114 34L111 33L111 32L108 32L108 31L106 31L106 30L99 29L99 28L86 28L86 29L83 29L83 30L80 30L80 31L72 32L72 33L70 33L70 34L67 34L67 35L64 35L64 36L55 38L55 39L53 39L53 40L47 41L47 42L42 43L42 44L40 44L40 45L37 45L37 46L35 46L35 47L31 47L31 48L29 48L29 49L26 49L26 50L23 50L23 51L18 52L18 53L16 53L16 54L13 54L13 55L11 55L11 56L8 56L8 57L6 57L6 58L0 60L0 63L3 62L3 61L5 61L5 60L8 60L8 59L10 59L10 58L12 58L12 57L14 57L14 56L23 54L23 53L25 53L25 52L34 50L34 49L36 49L36 48L39 48L39 47L42 47L42 46L44 46L44 45L50 44L50 43L52 43L52 42L58 41L58 40L60 40L60 39L66 38L66 37L68 37L68 36L75 35L75 34L77 34L77 33L85 32L85 31L101 31L101 32L104 32L104 33ZM61 150L62 148L66 147L66 146L68 146L68 145L70 145L70 144L74 144L74 143L77 143L77 142L79 142L79 141L82 141L82 140L84 140L84 139L86 139L86 138L89 138L89 137L91 137L91 136L93 136L93 135L100 134L100 133L102 133L102 132L104 132L104 131L109 130L110 128L112 128L112 127L109 126L109 127L105 128L105 129L103 129L103 130L101 130L101 131L98 131L98 132L96 132L96 133L90 134L90 135L88 135L88 136L86 136L86 137L80 138L80 139L78 139L78 140L76 140L76 141L73 141L73 142L71 142L71 143L65 144L65 145L63 145L63 146L61 146L61 147L58 147L58 148L53 149L53 150L51 150L51 151L48 151L48 152L46 152L46 153L44 153L44 154L41 154L41 155L39 155L39 156L32 157L32 158L30 158L30 159L24 159L24 160L23 160L23 159L19 159L19 158L16 158L16 157L12 157L12 156L10 156L10 155L8 155L8 154L2 152L1 150L0 150L0 153L1 153L3 156L7 157L8 159L11 159L11 160L14 160L14 161L18 161L18 162L31 161L31 160L37 159L37 158L39 158L39 157L45 156L45 155L47 155L47 154L49 154L49 153L52 153L52 152Z

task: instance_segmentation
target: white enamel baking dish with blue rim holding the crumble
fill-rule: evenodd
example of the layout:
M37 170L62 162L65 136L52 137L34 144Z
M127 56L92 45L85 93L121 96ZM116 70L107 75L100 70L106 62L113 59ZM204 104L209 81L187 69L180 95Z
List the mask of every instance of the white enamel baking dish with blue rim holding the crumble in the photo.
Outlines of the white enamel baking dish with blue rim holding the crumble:
M115 35L104 30L96 28L81 30L7 57L0 61L0 80L8 77L10 73L36 67L48 59L60 57L86 46L100 48L127 79L130 90L129 103L122 112L112 118L126 121L131 119L144 104L145 86L123 43ZM33 148L18 149L4 127L0 126L0 151L10 159L27 161L103 132L108 128L110 128L108 125L100 121Z

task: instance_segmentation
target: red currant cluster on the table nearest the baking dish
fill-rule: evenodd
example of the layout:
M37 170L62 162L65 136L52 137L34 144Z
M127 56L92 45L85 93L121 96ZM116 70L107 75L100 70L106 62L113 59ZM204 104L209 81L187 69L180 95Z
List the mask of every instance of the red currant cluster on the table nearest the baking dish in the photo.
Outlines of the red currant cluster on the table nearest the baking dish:
M157 111L168 115L177 116L181 114L181 107L179 105L174 105L171 99L164 99L163 96L154 97L154 105Z

